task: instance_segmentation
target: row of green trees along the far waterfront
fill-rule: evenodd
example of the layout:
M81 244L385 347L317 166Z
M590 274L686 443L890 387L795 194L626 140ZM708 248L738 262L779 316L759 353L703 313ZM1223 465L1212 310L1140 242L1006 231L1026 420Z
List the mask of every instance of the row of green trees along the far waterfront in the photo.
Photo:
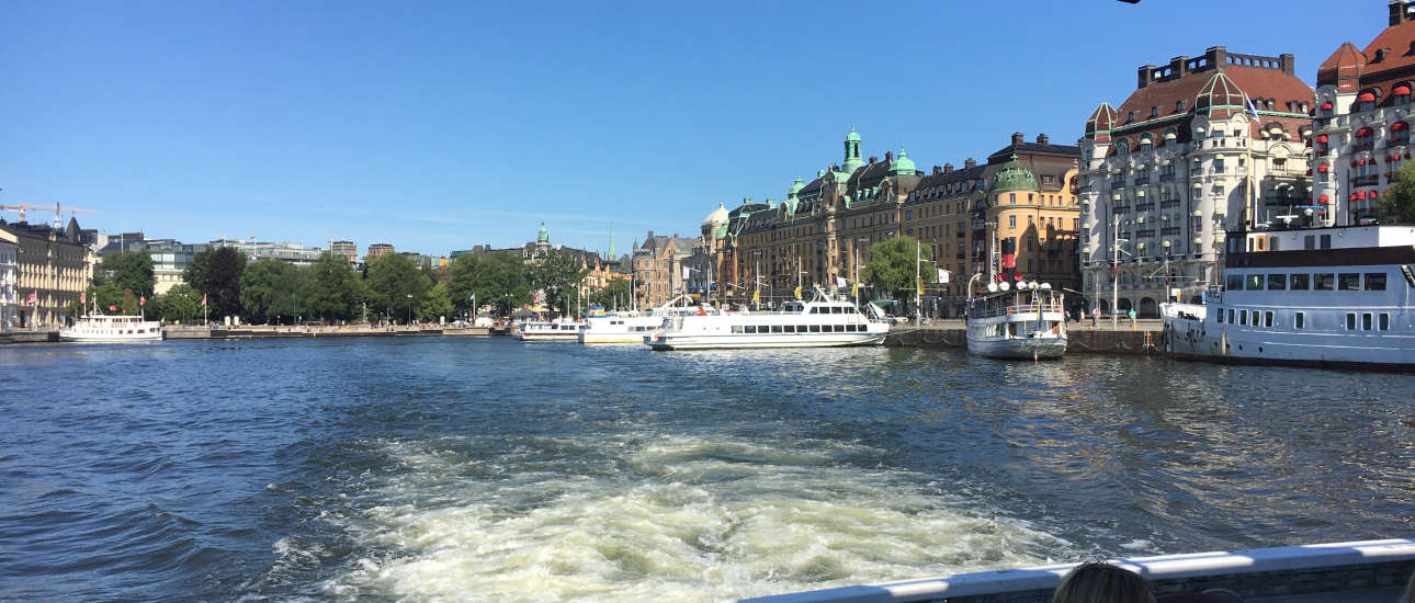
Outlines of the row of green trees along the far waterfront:
M624 280L584 296L587 272L566 251L552 251L535 263L511 253L468 253L437 269L420 269L408 256L385 253L368 258L357 270L348 258L331 252L310 266L296 266L277 259L246 262L233 248L216 248L197 253L183 272L183 283L156 294L151 256L122 252L103 256L88 296L100 313L143 313L170 323L200 323L205 296L209 320L231 316L250 324L403 324L454 320L474 310L509 316L532 303L536 292L543 292L545 304L562 316L577 302L583 307L628 299ZM76 303L69 309L72 316L85 311Z

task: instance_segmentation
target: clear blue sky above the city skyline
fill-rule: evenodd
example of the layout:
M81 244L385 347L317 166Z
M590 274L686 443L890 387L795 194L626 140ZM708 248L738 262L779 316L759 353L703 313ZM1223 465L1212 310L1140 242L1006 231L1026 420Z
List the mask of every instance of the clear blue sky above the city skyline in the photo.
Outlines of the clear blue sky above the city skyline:
M784 197L852 123L866 156L927 170L1019 130L1073 143L1136 67L1211 45L1293 52L1312 84L1385 27L1385 0L1339 4L8 1L0 204L361 253L519 245L541 221L607 251L613 224L624 252Z

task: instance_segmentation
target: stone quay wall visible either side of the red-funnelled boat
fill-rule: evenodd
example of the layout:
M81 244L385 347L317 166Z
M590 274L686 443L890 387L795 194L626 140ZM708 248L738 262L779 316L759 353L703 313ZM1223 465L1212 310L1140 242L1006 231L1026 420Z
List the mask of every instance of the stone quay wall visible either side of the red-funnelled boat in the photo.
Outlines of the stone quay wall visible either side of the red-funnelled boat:
M1090 321L1071 323L1067 326L1067 354L1163 354L1162 328L1159 320L1139 320L1132 326L1126 318L1116 328L1111 328L1111 323L1104 320L1095 327L1091 327ZM924 326L900 324L890 330L884 345L966 348L965 333L962 320L935 320Z

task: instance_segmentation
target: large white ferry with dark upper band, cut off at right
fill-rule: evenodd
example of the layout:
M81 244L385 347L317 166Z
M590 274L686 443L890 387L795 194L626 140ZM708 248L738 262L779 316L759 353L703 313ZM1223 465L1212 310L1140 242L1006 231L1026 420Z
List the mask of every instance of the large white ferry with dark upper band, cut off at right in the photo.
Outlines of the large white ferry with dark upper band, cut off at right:
M1227 243L1223 286L1160 306L1170 357L1415 369L1415 226L1266 228Z

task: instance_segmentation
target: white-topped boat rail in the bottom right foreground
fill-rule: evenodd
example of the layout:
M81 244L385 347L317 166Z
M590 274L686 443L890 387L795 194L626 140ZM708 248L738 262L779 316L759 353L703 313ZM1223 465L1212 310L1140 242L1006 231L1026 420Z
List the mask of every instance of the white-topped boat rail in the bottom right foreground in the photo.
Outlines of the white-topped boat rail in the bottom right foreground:
M1116 559L1156 596L1228 589L1245 602L1394 602L1415 572L1415 539ZM757 603L1050 602L1077 563L775 595Z

